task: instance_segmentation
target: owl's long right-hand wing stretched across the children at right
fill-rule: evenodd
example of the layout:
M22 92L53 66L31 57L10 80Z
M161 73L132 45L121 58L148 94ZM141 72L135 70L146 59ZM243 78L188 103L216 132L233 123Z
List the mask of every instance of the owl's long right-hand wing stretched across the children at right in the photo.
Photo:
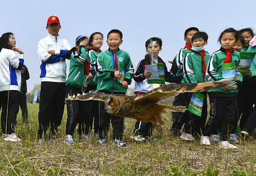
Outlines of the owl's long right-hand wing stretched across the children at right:
M168 84L153 89L152 91L137 96L134 99L134 102L151 102L157 103L162 100L168 99L170 97L175 97L176 95L183 92L204 92L208 90L214 89L222 89L226 87L231 80L220 80L220 81L210 81L210 82L202 82L202 83L190 83L190 84Z

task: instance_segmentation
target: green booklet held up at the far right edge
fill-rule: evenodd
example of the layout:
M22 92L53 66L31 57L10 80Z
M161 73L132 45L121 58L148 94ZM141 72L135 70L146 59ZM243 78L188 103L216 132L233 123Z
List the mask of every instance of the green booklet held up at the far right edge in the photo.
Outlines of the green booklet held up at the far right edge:
M240 73L242 76L244 76L244 72L247 69L250 69L251 63L253 61L253 58L255 56L255 52L240 52Z

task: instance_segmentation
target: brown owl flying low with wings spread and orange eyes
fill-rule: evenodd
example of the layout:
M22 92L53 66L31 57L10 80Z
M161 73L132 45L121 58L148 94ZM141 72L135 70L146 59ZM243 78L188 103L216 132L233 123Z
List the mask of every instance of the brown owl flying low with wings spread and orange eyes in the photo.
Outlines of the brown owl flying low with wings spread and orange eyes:
M160 86L152 91L139 96L110 95L97 91L91 91L84 95L68 97L67 100L99 100L105 102L105 110L117 117L133 118L143 122L151 122L158 131L161 125L168 119L166 109L176 112L185 112L185 106L168 106L158 104L170 97L183 92L203 92L213 89L222 89L229 85L231 80L211 81L190 84L168 84Z

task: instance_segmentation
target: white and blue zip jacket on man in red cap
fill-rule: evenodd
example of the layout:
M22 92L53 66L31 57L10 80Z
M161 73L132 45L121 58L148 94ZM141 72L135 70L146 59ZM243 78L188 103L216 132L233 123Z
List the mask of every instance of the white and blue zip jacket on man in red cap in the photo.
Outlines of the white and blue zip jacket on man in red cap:
M48 54L48 51L55 50L55 55ZM66 82L66 53L71 46L66 39L48 34L38 43L37 53L41 59L41 81Z

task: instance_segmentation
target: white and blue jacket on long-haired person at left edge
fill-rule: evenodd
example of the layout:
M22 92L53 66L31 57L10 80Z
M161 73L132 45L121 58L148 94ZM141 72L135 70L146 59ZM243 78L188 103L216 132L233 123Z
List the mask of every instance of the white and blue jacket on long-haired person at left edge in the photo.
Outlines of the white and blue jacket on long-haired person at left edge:
M0 92L1 91L20 91L22 84L22 70L24 54L18 57L13 50L3 48L0 52Z

